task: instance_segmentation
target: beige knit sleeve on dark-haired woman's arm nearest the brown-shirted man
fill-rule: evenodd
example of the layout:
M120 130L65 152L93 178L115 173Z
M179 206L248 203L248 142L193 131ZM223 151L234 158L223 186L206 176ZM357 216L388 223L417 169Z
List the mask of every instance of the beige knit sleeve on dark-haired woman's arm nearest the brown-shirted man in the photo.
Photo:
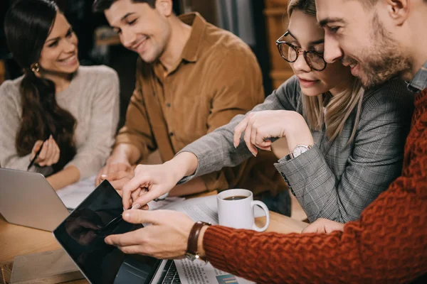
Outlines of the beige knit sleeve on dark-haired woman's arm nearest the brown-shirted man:
M97 77L97 89L93 94L88 136L85 143L68 165L80 170L80 179L95 175L105 164L119 119L119 78L113 70L102 71Z

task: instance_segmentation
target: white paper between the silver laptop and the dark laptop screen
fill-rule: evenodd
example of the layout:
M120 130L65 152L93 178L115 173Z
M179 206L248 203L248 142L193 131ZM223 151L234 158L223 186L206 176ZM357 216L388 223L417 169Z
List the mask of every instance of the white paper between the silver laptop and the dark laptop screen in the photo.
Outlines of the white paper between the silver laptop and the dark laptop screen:
M60 200L62 200L65 207L68 209L74 209L78 207L78 204L83 202L88 195L90 195L93 190L95 190L95 178L93 175L90 178L86 178L85 180L80 180L78 182L73 183L73 185L68 185L66 187L57 190Z

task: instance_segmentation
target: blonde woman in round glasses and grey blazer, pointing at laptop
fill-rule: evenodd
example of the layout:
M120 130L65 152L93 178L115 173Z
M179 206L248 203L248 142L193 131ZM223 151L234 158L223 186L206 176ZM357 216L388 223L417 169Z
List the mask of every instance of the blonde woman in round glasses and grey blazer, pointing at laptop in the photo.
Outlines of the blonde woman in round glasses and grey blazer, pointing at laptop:
M276 42L295 75L246 115L186 146L163 165L139 165L125 185L125 208L167 194L177 182L233 167L286 138L275 168L310 222L349 222L400 175L412 96L391 80L363 89L344 60L323 59L325 32L314 0L293 0ZM347 66L346 66L347 65ZM185 177L185 178L184 178ZM139 196L141 188L148 192Z

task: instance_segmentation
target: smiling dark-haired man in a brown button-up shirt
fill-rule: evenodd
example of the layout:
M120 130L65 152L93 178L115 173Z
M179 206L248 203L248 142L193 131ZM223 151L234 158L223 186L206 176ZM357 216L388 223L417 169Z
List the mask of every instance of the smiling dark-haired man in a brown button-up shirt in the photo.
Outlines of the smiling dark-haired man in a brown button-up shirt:
M139 54L137 86L125 126L97 182L117 189L132 178L131 165L159 150L170 160L184 146L245 114L264 100L262 76L251 49L198 13L175 16L171 0L97 0L122 44ZM256 194L285 188L263 152L236 168L225 168L184 185L171 195L247 188Z

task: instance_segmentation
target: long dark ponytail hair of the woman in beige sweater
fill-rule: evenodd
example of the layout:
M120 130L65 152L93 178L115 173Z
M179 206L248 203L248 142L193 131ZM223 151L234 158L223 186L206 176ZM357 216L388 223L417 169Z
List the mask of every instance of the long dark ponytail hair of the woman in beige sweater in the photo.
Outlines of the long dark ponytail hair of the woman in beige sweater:
M21 156L28 155L36 141L46 140L52 134L60 148L60 160L53 165L56 171L75 155L76 121L69 111L58 106L55 84L37 77L31 66L38 62L58 12L53 1L22 0L11 6L4 21L9 50L24 70L22 121L16 135L16 151Z

